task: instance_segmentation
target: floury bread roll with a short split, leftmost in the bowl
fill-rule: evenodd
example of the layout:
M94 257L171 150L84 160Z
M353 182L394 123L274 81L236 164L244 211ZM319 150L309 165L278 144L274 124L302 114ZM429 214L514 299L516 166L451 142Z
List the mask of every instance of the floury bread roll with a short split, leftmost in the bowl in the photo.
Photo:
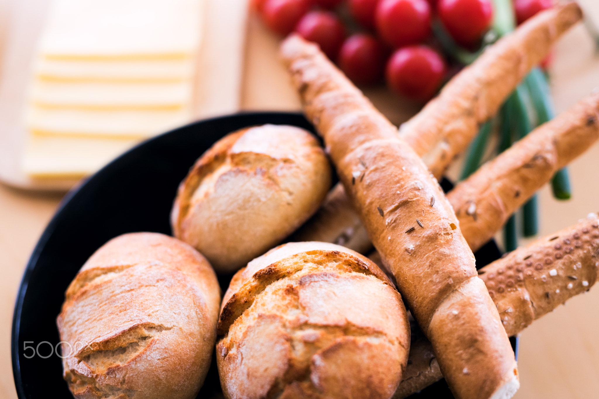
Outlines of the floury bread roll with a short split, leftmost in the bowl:
M164 234L124 234L87 260L65 297L56 323L76 398L196 397L220 288L195 249Z

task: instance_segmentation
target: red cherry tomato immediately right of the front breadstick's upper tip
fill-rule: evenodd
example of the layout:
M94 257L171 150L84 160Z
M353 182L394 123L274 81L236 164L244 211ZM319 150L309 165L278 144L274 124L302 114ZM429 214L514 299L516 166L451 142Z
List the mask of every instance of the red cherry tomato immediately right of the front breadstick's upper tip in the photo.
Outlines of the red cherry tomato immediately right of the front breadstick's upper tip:
M316 42L331 60L337 59L345 39L343 24L329 11L310 11L299 20L295 31L304 39Z

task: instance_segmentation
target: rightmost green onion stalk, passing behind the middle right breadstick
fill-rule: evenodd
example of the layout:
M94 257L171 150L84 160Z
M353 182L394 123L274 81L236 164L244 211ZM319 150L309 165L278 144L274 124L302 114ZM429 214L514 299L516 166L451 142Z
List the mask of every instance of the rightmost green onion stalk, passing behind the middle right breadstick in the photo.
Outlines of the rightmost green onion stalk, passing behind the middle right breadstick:
M555 116L555 111L553 109L549 84L543 72L539 68L533 69L526 77L525 83L528 86L534 109L537 112L537 123L543 124L552 120ZM567 168L564 167L564 169L558 170L555 173L555 176L551 180L551 187L553 196L556 199L566 200L571 198L572 192Z

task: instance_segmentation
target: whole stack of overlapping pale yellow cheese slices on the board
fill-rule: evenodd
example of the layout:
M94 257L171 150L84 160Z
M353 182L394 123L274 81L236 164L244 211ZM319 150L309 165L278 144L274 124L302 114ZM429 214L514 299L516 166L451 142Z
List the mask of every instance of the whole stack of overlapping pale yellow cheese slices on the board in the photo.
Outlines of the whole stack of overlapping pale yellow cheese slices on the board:
M34 61L23 170L78 178L192 118L204 0L56 0Z

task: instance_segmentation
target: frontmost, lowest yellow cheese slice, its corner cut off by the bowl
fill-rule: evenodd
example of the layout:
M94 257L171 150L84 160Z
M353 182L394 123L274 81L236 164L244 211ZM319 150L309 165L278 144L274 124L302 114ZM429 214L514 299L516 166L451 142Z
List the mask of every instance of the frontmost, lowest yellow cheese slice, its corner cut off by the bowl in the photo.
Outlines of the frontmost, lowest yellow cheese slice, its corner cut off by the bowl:
M138 142L30 136L22 169L32 178L80 178L100 169Z

